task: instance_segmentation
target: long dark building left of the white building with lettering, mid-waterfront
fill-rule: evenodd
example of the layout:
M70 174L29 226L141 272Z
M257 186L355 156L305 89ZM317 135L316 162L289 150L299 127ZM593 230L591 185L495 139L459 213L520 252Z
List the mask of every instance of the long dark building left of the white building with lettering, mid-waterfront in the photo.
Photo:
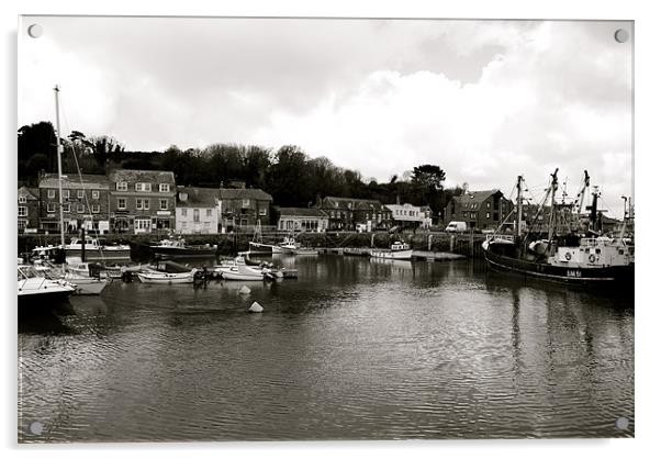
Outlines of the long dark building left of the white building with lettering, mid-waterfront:
M388 228L391 224L390 210L373 199L326 197L316 206L328 215L328 229L333 231L354 231L357 224Z

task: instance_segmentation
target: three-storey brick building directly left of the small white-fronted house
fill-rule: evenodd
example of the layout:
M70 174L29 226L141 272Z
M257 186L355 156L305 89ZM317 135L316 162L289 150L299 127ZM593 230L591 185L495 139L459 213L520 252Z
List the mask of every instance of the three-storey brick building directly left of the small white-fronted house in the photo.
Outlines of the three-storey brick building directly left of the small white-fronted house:
M110 181L110 225L117 233L153 233L175 227L175 175L163 170L115 169Z

